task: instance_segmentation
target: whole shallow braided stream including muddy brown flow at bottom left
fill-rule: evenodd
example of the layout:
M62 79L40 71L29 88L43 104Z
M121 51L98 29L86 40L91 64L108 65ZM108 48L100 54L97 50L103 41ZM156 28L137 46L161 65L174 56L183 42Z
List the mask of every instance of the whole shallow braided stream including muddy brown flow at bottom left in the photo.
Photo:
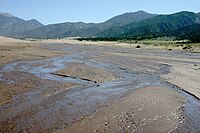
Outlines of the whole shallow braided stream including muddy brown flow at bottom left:
M171 54L174 54L180 56L182 53L147 52L144 50L103 46L97 49L94 46L58 44L51 44L45 48L73 52L73 54L40 61L10 63L3 66L0 71L4 73L10 71L27 72L43 79L71 82L80 86L58 91L49 97L42 98L38 98L40 91L30 91L16 95L16 102L0 106L1 114L5 114L1 115L1 125L5 125L6 121L16 121L12 131L49 132L57 128L66 127L83 116L90 116L99 107L108 106L135 88L157 85L175 89L187 99L186 105L183 108L185 124L182 125L180 132L200 132L200 102L189 94L180 91L175 86L160 81L159 74L168 73L170 70L168 65L158 63L154 60L143 61L121 56L124 53L144 53L149 56L171 56ZM109 53L120 53L121 55L112 55ZM198 55L188 54L183 56L199 58ZM68 63L71 62L103 68L116 75L117 79L107 83L95 84L94 82L82 79L59 77L51 74L52 72L66 68ZM0 80L7 83L15 82L15 80L6 80L3 76L0 77ZM22 103L18 102L18 99L22 98L24 101ZM12 112L12 114L6 113L8 110L15 110L15 112Z

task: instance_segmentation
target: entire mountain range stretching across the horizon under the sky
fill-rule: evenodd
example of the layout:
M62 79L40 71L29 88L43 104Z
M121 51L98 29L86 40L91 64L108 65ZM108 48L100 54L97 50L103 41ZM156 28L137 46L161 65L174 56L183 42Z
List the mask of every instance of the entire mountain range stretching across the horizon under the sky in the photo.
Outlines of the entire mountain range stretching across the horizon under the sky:
M157 15L138 11L113 17L103 23L66 22L51 25L0 13L0 35L40 39L80 37L79 40L92 41L173 37L200 42L200 13L183 11Z

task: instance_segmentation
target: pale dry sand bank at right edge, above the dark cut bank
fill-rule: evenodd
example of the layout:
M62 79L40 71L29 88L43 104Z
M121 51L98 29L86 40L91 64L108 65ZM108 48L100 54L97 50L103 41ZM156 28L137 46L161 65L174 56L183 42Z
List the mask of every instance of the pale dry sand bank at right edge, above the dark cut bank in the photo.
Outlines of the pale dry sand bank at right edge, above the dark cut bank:
M171 72L161 77L200 99L200 65L174 63Z

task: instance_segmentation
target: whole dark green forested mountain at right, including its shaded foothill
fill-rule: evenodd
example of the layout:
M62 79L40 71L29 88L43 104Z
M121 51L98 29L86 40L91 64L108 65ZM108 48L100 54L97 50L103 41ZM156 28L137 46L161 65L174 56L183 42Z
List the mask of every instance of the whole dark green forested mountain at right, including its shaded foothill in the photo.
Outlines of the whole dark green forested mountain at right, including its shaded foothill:
M97 37L81 38L91 41L149 40L170 37L176 40L200 42L200 18L192 12L158 15L125 26L112 27L97 34Z

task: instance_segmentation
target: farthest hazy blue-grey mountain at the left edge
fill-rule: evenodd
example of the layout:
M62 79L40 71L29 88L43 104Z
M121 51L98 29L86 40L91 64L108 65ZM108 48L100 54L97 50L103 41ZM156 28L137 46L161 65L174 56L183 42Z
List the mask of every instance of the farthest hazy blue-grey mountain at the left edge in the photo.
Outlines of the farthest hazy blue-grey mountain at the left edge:
M41 26L35 19L25 21L8 13L0 13L0 35L13 36Z

